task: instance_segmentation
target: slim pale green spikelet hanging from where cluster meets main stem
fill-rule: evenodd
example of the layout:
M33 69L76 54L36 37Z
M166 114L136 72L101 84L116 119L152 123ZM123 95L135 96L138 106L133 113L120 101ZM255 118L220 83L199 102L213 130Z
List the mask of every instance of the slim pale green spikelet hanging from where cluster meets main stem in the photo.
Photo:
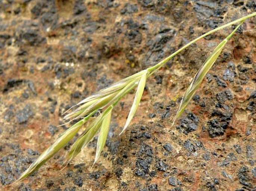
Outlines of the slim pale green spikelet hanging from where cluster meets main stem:
M136 94L135 94L135 98L134 98L131 110L130 110L129 115L127 117L127 120L126 120L126 123L124 125L123 131L120 134L122 134L124 132L124 130L126 130L128 125L132 121L132 118L135 115L135 112L136 112L136 110L139 106L139 102L141 101L141 97L142 97L142 94L144 92L144 87L146 85L146 78L147 78L147 75L148 75L147 70L143 70L143 71L144 71L144 73L142 74L141 79L139 80L138 88L137 88L137 91L136 91Z

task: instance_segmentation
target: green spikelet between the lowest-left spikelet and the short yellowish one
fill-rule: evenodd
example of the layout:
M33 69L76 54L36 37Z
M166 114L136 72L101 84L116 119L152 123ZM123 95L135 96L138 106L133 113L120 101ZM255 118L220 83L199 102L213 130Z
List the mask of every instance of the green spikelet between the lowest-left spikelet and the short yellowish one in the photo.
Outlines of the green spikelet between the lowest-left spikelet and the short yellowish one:
M84 146L90 142L90 140L95 136L95 134L98 132L99 128L101 127L102 121L110 111L112 110L113 106L111 105L108 107L101 116L92 122L92 124L87 127L84 132L78 137L78 139L75 141L75 143L72 145L70 151L68 152L67 156L67 163L70 162L72 159L74 159L75 156L77 156L78 153L81 152Z

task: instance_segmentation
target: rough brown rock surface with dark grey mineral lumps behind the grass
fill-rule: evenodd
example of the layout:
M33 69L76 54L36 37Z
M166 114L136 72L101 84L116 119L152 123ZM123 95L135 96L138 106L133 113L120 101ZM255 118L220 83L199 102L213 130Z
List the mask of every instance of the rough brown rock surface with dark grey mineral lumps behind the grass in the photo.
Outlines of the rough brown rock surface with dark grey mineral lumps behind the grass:
M148 79L135 118L118 136L133 95L122 99L92 170L96 139L61 171L72 140L13 184L69 127L57 126L70 106L255 11L254 0L0 0L0 190L255 190L255 17L228 42L173 128L195 72L235 26L191 45Z

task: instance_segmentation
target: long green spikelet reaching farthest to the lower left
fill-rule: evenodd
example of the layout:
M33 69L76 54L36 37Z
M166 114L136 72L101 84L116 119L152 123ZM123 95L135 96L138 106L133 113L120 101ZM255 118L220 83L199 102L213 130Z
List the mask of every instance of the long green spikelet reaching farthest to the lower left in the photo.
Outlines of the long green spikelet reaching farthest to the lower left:
M94 113L88 115L83 120L78 121L72 127L68 128L62 135L56 139L56 141L46 149L35 162L33 162L30 167L22 173L17 181L21 181L22 179L26 178L28 175L32 174L38 168L40 168L47 160L50 159L55 153L57 153L65 144L70 141L75 134L80 130L82 125L93 115Z

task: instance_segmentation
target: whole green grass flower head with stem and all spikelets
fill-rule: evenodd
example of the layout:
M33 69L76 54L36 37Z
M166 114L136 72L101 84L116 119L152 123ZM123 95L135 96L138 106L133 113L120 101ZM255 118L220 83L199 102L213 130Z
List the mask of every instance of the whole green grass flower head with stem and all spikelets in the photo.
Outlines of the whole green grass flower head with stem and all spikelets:
M192 79L191 84L189 85L188 89L186 90L182 98L178 112L173 120L173 123L174 123L175 120L185 110L186 106L189 104L189 101L191 100L195 91L198 89L201 82L203 81L204 76L213 66L213 64L219 57L220 53L222 52L228 40L232 37L232 35L234 35L235 31L237 31L237 29L243 24L243 22L246 19L249 19L250 17L255 15L256 15L256 12L248 16L242 17L240 19L237 19L233 22L227 23L226 25L220 26L216 29L213 29L212 31L209 31L206 34L201 35L198 38L194 39L193 41L189 42L188 44L186 44L185 46L183 46L182 48L180 48L179 50L171 54L169 57L160 61L155 66L142 70L136 74L133 74L132 76L126 77L125 79L120 80L119 82L114 83L113 85L100 90L99 92L89 96L88 98L74 105L72 108L70 108L71 112L64 116L64 119L69 120L69 122L73 120L79 120L79 121L76 122L74 125L72 125L70 128L68 128L64 133L62 133L55 140L55 142L48 149L46 149L36 159L36 161L30 165L30 167L25 172L22 173L18 181L21 181L22 179L26 178L28 175L32 174L34 171L39 169L47 160L49 160L53 155L55 155L55 153L57 153L65 144L67 144L71 139L73 139L75 134L78 133L78 131L84 126L84 124L88 122L99 109L102 109L101 114L98 117L96 117L94 120L90 120L90 124L86 126L83 133L81 133L81 135L75 141L70 151L68 152L67 161L66 161L66 163L68 163L75 156L77 156L77 154L81 151L81 149L83 149L83 147L86 146L86 144L89 143L89 141L92 140L92 138L99 132L96 156L94 161L94 163L96 163L101 154L102 149L104 148L105 142L107 140L113 108L120 101L120 99L123 98L123 96L127 95L127 93L129 93L130 91L132 91L137 87L132 107L128 114L127 121L124 125L123 131L121 133L123 133L124 130L126 130L126 128L129 126L132 118L135 115L139 102L141 101L142 94L144 92L146 79L149 76L154 74L167 61L169 61L175 55L179 54L179 52L189 47L191 44L198 41L199 39L204 38L205 36L210 35L213 32L216 32L227 26L231 26L235 23L239 23L238 26L231 32L231 34L229 34L222 42L219 43L219 45L215 48L215 50L213 50L213 52L209 55L207 60L203 63L202 67L195 74L195 77Z

